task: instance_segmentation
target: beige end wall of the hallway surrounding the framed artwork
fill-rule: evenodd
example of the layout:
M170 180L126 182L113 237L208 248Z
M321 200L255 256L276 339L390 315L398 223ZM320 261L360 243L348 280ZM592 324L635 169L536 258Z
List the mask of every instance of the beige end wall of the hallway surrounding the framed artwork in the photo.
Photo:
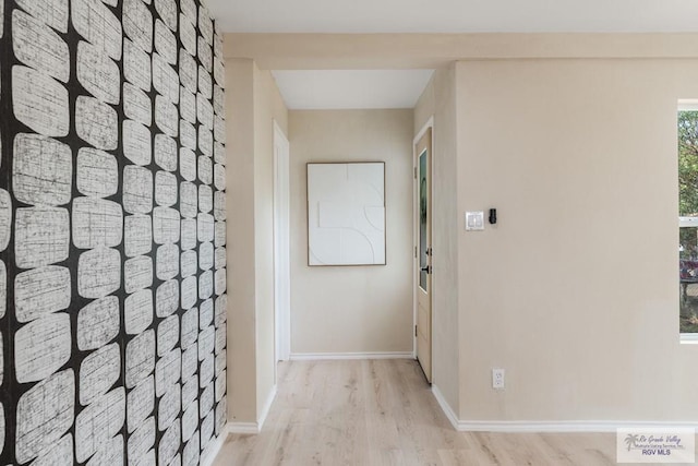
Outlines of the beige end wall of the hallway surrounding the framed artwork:
M291 353L412 351L412 110L291 111ZM308 266L308 162L386 162L387 265Z

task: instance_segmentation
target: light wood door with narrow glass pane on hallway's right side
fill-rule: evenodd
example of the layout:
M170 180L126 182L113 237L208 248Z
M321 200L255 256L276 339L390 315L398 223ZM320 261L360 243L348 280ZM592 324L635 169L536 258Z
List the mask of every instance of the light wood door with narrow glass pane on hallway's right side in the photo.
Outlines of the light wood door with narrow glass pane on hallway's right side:
M432 381L432 122L414 139L416 356Z

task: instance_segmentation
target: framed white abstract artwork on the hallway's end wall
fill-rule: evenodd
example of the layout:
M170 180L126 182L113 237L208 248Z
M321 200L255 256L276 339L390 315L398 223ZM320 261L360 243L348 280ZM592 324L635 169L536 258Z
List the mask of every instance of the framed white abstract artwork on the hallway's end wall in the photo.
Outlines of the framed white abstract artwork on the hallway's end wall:
M308 164L308 265L385 265L385 163Z

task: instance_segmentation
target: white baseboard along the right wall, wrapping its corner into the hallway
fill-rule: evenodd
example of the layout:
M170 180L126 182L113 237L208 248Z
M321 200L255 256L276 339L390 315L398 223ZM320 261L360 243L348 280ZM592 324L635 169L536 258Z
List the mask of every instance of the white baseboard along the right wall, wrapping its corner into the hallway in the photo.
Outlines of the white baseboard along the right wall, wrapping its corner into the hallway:
M455 430L459 432L529 432L529 433L564 433L564 432L615 432L623 428L674 428L698 429L698 421L609 421L609 420L579 420L579 421L482 421L460 420L453 410L444 395L435 384L432 385L432 394L441 409L448 418Z

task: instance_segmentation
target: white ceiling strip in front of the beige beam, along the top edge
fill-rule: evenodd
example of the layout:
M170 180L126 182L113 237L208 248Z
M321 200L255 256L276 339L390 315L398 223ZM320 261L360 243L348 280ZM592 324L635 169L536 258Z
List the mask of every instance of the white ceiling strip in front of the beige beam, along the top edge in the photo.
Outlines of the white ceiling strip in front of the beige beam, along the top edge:
M696 0L208 0L229 33L698 32Z

